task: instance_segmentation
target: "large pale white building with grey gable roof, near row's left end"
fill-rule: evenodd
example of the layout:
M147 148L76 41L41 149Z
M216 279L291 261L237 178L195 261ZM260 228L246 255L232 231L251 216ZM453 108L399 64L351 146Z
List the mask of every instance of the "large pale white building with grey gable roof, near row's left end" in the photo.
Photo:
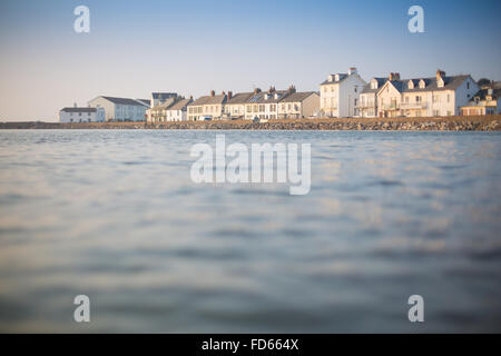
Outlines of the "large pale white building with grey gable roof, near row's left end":
M140 100L115 97L97 97L90 107L105 108L106 121L145 121L148 105Z

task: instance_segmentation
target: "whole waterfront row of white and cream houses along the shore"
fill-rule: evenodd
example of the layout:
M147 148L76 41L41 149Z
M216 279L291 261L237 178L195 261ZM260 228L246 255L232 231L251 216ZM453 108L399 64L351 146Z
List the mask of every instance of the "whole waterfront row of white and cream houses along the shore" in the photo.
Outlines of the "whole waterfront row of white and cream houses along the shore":
M480 88L470 75L401 79L400 73L366 82L356 68L330 75L317 91L271 87L194 99L176 92L153 92L150 99L97 97L88 107L60 110L61 122L186 120L273 120L302 118L392 118L501 113L499 83Z

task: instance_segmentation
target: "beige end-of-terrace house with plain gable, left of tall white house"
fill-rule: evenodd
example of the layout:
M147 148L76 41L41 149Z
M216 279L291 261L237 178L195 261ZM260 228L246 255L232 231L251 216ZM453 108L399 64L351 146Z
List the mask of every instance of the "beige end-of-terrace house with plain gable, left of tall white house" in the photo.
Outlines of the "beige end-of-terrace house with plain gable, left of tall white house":
M315 91L293 92L278 103L278 119L303 119L316 116L320 95Z

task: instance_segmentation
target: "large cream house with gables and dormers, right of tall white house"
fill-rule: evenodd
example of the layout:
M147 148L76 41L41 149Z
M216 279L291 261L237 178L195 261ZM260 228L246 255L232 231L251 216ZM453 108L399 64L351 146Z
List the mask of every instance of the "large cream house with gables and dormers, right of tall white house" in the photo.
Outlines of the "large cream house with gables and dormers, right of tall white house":
M400 79L392 73L377 91L379 117L439 117L459 115L479 90L471 76L446 77L438 70L433 78Z

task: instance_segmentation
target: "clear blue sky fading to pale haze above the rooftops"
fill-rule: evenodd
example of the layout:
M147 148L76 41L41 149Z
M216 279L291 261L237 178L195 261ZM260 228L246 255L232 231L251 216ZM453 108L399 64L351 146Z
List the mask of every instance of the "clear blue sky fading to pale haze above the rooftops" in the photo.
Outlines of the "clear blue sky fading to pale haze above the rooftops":
M81 4L89 33L73 30ZM415 4L423 33L407 30ZM1 0L0 121L57 121L100 95L320 90L348 67L501 80L500 14L499 0Z

